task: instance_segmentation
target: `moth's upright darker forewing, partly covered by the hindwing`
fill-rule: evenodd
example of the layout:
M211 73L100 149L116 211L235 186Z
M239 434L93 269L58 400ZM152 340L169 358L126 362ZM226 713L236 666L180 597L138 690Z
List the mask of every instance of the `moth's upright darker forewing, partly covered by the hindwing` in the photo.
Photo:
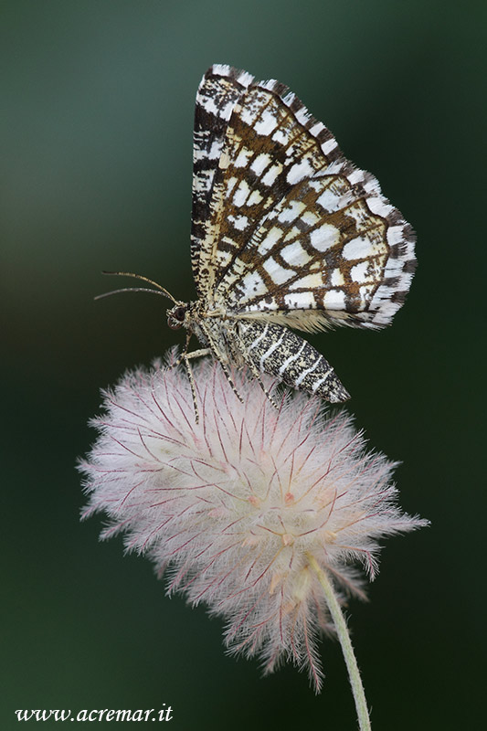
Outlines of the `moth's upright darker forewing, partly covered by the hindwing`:
M278 81L256 83L228 66L206 72L196 96L193 184L200 295L211 297L260 222L302 177L330 164L334 148L331 132Z

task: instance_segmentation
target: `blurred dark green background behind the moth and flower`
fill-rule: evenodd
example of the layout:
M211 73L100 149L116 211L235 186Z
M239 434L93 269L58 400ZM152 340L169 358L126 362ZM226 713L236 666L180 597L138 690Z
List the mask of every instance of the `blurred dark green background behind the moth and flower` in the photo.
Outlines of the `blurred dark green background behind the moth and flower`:
M183 340L165 302L93 296L118 269L194 297L192 122L213 62L288 84L417 229L394 326L313 338L371 445L403 461L402 506L432 522L388 542L349 618L375 731L483 724L485 7L0 3L2 728L19 708L165 703L182 729L355 729L336 643L320 696L291 667L262 679L120 537L98 543L101 517L79 524L100 387Z

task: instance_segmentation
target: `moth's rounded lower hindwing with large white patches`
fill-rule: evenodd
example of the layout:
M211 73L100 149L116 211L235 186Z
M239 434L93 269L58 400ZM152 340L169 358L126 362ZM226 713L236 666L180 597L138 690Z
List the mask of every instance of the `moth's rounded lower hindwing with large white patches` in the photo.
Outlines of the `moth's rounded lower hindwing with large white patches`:
M217 302L312 331L390 323L416 266L411 228L376 179L337 162L302 180L260 221Z

